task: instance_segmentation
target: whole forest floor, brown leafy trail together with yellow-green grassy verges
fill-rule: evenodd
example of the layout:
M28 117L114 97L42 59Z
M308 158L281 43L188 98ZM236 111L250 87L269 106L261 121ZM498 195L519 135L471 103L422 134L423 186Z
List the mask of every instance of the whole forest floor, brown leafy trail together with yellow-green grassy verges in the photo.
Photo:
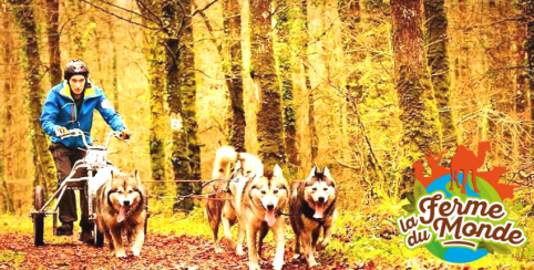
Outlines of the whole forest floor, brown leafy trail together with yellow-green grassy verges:
M384 201L378 206L343 211L336 221L329 247L316 253L321 263L318 269L534 269L534 219L513 216L525 229L528 242L513 249L512 256L487 255L471 263L449 263L432 256L425 248L410 250L404 238L398 233L396 219L408 200ZM34 247L33 224L27 212L0 215L0 269L248 269L248 257L237 256L233 250L216 255L212 245L212 231L197 207L187 215L172 214L166 204L152 204L148 236L141 258L119 260L109 249L94 248L72 237L52 236L52 220L45 219L47 246ZM511 215L515 215L512 212ZM76 226L75 230L80 228ZM223 229L219 229L219 236ZM237 236L236 226L233 237ZM286 225L284 270L306 269L292 259L295 235ZM246 248L245 248L246 252ZM273 269L273 233L268 233L263 249L261 269Z

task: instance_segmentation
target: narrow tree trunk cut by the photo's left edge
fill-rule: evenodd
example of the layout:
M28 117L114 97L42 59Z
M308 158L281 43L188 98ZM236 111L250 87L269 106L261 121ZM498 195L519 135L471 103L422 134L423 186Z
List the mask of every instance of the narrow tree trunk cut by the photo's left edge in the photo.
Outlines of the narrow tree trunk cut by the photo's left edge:
M11 120L9 118L9 115L10 115L10 111L12 110L11 108L11 105L9 102L9 98L11 96L11 93L12 93L12 87L11 87L11 83L12 83L12 79L9 76L11 74L10 72L10 69L12 65L14 65L14 61L13 61L13 56L12 56L12 46L13 46L13 37L11 35L11 18L9 15L8 12L3 11L3 10L0 10L0 14L2 15L3 18L3 39L4 39L4 42L2 42L3 44L3 64L4 64L4 69L3 69L3 75L4 75L4 82L3 82L3 91L0 93L0 97L2 98L2 103L1 104L4 104L4 114L2 115L6 115L4 116L4 124L2 125L2 127L0 128L0 180L2 181L2 206L3 206L3 209L0 209L0 210L3 210L3 211L7 211L7 212L13 212L14 211L14 207L13 207L13 199L11 198L11 193L9 190L9 187L8 187L8 183L7 180L9 179L7 176L7 172L6 172L6 167L3 166L4 164L8 164L8 166L11 166L12 163L10 162L9 158L7 158L6 156L6 152L4 149L7 149L8 145L6 144L6 134L7 134L7 131L8 131L8 126L11 122Z

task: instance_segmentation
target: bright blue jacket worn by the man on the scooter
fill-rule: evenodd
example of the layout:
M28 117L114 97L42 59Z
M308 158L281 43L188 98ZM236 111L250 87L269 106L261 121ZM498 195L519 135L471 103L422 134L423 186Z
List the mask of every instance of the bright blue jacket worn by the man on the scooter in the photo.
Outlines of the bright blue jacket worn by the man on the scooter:
M91 83L91 82L90 82ZM91 83L85 89L80 112L66 81L50 90L41 114L41 126L50 135L52 143L63 144L68 148L85 148L81 136L61 139L55 136L55 128L64 126L68 129L80 128L85 133L88 144L91 144L91 127L93 126L93 111L96 110L113 131L126 129L121 116L113 110L105 98L104 92Z

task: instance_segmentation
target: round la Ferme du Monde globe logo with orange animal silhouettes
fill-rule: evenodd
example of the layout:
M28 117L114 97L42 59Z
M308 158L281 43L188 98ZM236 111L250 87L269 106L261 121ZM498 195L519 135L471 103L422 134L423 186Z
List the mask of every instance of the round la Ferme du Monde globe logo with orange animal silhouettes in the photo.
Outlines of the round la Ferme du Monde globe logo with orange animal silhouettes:
M511 248L526 242L524 230L509 219L503 200L514 197L516 185L499 183L503 167L477 172L485 162L490 143L481 142L479 153L458 146L450 168L439 165L442 155L425 155L432 176L424 176L421 160L413 195L407 195L409 214L397 219L409 249L425 247L435 257L455 263L476 261L487 253L511 255ZM515 210L515 209L513 209Z

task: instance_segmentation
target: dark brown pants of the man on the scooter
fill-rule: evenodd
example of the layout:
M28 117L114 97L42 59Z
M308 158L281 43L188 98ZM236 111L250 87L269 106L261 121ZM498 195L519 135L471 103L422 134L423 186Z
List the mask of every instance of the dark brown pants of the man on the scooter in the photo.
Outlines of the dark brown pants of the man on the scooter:
M85 152L80 149L70 149L62 144L50 144L49 147L52 156L54 157L55 168L58 170L58 187L61 183L71 174L74 163L85 156ZM86 176L86 169L78 169L72 178ZM85 187L82 181L80 187ZM74 190L66 189L59 202L60 208L60 221L62 224L74 222L78 220L76 212L76 197ZM92 224L89 221L89 206L88 206L88 190L85 188L80 189L80 208L82 209L82 218L80 219L80 227L85 230L92 228Z

